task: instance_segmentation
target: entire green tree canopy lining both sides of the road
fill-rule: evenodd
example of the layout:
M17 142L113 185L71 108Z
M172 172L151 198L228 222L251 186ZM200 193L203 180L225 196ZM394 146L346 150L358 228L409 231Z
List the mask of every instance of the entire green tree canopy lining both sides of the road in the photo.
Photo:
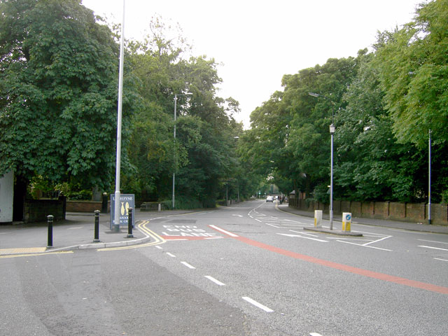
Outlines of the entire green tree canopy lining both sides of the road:
M0 0L0 13L0 175L111 191L117 34L80 0ZM215 60L155 18L126 43L122 192L171 204L175 173L178 207L272 183L327 202L334 123L335 198L427 200L431 130L433 202L446 202L447 16L448 0L430 1L371 52L286 74L245 131Z

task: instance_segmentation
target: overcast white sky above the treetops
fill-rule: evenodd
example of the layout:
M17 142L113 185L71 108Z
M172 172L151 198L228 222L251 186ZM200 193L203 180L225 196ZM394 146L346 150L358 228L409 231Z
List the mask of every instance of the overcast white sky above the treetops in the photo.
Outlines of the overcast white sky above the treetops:
M281 78L328 58L356 56L377 31L410 22L424 0L125 0L125 37L139 39L160 15L179 23L193 55L223 65L218 95L233 97L249 116L276 90ZM425 1L426 2L426 1ZM123 0L83 0L83 5L121 23Z

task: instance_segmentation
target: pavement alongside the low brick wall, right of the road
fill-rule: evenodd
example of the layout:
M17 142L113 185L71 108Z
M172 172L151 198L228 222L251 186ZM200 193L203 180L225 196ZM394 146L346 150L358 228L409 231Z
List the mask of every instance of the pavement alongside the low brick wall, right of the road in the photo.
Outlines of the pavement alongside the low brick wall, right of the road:
M293 207L288 207L288 204L279 204L278 209L281 211L286 211L290 214L296 214L299 216L307 216L314 218L313 211L303 211L295 209ZM323 214L322 219L328 221L329 215ZM411 222L391 221L391 220L383 220L376 218L361 218L361 217L352 217L351 223L361 225L381 226L384 228L394 228L397 230L442 233L448 235L448 226L446 225L428 225L424 223L411 223ZM333 216L333 228L335 230L342 228L342 214L339 215L336 214Z

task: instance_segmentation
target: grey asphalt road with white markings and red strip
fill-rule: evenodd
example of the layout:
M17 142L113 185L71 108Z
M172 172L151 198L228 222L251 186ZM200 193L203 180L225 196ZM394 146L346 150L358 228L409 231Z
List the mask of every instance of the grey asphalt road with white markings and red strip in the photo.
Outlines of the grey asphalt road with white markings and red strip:
M1 259L0 335L448 334L448 235L313 223L245 202L145 221L144 246Z

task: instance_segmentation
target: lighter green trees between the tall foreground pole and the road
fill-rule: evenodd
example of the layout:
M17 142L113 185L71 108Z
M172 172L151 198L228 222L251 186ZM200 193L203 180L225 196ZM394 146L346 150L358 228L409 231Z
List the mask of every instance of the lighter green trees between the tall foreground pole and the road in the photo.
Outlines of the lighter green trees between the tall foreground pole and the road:
M176 204L214 207L221 181L235 179L237 172L235 137L242 127L232 115L239 111L238 102L216 97L221 78L214 59L186 59L184 38L167 39L172 33L159 19L151 23L151 32L129 48L144 98L134 116L130 146L136 173L125 177L125 186L144 199L167 200L176 172Z

